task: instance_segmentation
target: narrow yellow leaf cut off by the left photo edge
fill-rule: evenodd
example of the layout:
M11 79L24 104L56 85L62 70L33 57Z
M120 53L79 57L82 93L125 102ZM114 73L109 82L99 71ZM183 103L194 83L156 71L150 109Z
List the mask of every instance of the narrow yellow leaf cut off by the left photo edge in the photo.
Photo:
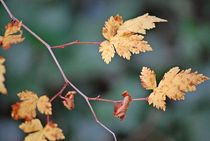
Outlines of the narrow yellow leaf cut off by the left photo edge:
M3 65L4 62L5 59L0 56L0 93L7 94L7 89L5 88L4 85L5 81L4 74L6 73L5 66Z

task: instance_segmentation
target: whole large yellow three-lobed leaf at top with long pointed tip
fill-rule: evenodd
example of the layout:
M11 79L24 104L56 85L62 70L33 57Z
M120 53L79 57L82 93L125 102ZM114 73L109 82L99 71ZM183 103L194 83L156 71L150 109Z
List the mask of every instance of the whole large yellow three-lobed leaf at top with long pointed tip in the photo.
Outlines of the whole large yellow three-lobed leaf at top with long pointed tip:
M152 51L148 42L144 41L143 34L146 30L154 28L155 22L166 20L145 14L123 22L121 16L111 16L102 29L102 35L106 40L99 47L104 62L109 64L115 53L130 60L132 54Z

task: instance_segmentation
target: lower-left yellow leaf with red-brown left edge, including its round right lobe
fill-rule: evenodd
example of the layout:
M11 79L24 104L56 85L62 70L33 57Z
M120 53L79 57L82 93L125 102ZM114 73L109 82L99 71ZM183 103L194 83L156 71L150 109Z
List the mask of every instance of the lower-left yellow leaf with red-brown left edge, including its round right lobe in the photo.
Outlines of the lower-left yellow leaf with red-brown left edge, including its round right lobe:
M15 120L25 119L30 121L36 117L36 108L45 115L52 114L52 105L49 98L44 95L40 98L32 91L18 93L20 102L12 105L12 118Z

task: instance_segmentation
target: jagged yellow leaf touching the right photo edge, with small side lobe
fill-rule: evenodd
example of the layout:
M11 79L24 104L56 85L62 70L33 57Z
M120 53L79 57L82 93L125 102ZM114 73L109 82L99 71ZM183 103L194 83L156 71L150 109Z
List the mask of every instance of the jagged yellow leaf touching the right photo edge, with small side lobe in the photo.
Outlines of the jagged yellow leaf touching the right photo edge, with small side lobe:
M154 77L155 75L153 73L154 71L149 68L147 68L146 71L147 74L145 75L145 68L143 68L142 77L147 77L143 78L143 81ZM158 84L158 87L153 87L153 92L149 95L148 102L157 109L165 111L166 98L171 100L184 100L186 92L195 91L197 85L208 79L209 78L203 74L191 72L191 69L180 71L178 67L174 67L165 73L163 79ZM145 87L144 85L145 83L143 83L143 87Z

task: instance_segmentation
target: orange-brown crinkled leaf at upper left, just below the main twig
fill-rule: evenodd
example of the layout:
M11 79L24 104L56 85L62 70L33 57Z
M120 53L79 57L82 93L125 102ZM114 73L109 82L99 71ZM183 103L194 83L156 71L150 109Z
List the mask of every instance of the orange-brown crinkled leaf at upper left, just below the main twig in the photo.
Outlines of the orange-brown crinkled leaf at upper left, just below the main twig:
M3 49L9 49L12 44L17 44L24 40L21 26L22 22L12 21L5 27L4 36L0 36L0 44Z

